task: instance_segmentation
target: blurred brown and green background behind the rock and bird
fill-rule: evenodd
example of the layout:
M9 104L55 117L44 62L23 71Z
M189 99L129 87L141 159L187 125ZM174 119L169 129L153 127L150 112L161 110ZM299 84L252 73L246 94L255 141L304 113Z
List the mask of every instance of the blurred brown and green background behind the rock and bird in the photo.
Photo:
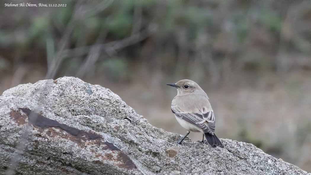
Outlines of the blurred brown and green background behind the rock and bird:
M75 76L165 131L181 79L207 92L220 138L311 172L310 1L55 1L0 6L0 94ZM202 135L191 133L193 141ZM177 140L176 140L177 141Z

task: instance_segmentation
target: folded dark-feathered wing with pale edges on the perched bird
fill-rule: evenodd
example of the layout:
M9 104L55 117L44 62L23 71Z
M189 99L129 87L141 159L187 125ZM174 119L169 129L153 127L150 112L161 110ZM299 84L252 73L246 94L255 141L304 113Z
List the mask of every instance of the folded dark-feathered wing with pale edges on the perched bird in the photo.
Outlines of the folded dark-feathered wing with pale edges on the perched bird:
M210 113L192 113L192 112L183 112L180 108L176 105L171 106L172 112L179 118L200 127L205 132L214 132L215 131L215 119L214 119L214 112L211 111ZM209 120L207 118L209 117ZM211 123L209 123L211 121ZM208 122L208 125L206 125Z

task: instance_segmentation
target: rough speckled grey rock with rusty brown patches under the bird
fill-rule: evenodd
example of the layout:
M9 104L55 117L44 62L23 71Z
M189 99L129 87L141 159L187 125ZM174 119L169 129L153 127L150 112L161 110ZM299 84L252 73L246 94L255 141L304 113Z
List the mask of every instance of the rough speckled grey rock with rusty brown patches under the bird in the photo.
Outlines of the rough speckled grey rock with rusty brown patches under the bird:
M151 126L111 90L74 77L18 85L0 96L0 174L22 148L16 174L311 175L252 144L176 145L181 138Z

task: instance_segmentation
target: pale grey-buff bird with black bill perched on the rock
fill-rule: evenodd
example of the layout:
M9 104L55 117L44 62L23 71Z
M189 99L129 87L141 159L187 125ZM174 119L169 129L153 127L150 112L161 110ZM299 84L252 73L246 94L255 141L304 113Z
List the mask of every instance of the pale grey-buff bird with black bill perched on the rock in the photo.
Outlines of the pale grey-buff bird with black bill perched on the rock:
M215 117L207 94L196 82L191 80L180 80L175 84L166 84L177 88L177 95L172 101L172 112L175 114L177 122L187 130L187 134L181 142L188 136L190 131L202 132L211 147L224 146L214 134Z

